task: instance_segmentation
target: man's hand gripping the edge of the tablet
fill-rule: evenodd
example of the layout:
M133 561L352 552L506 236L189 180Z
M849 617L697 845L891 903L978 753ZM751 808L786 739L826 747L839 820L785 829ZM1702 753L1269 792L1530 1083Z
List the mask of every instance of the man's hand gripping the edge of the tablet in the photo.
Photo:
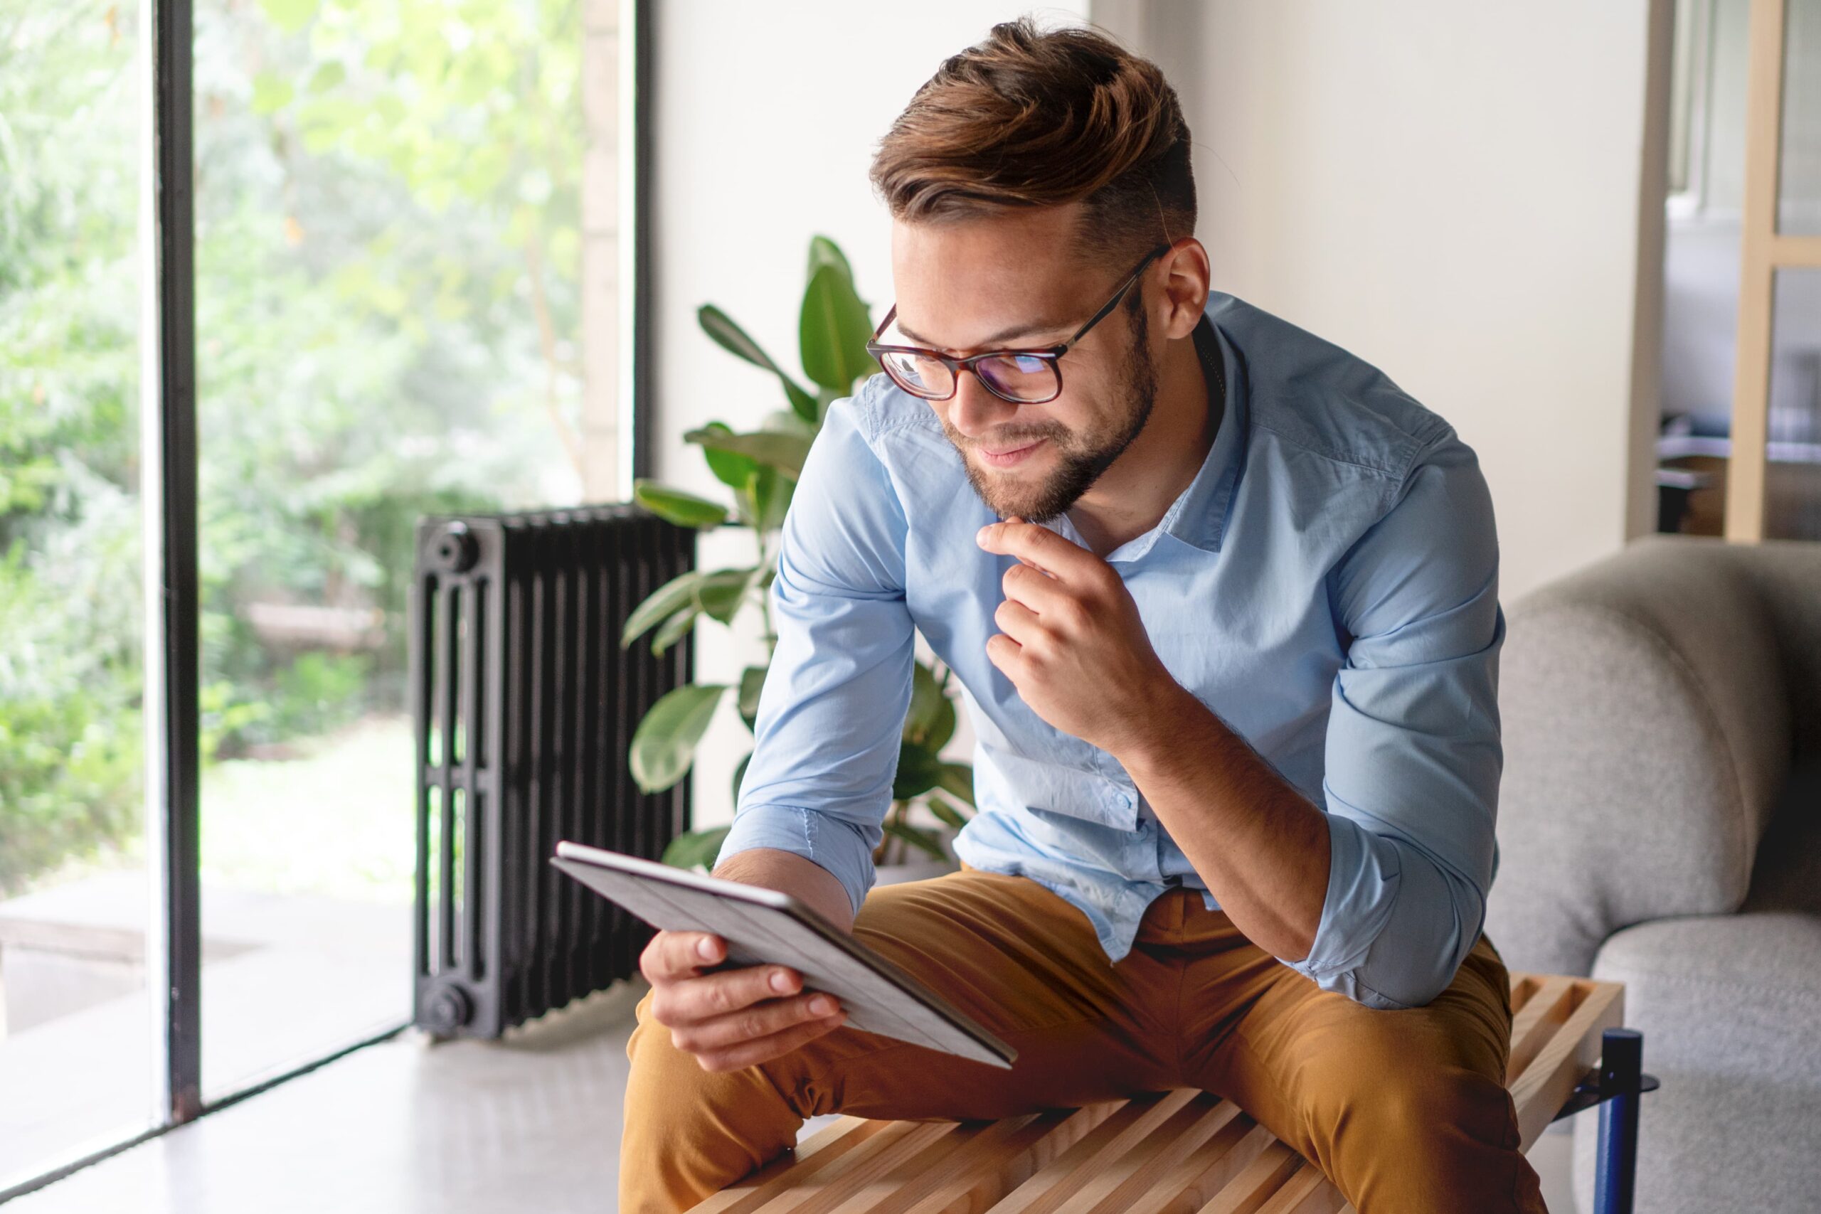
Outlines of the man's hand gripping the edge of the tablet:
M834 996L805 992L803 976L781 965L703 974L727 956L708 932L659 932L639 954L652 983L652 1017L703 1070L739 1070L788 1054L847 1019Z

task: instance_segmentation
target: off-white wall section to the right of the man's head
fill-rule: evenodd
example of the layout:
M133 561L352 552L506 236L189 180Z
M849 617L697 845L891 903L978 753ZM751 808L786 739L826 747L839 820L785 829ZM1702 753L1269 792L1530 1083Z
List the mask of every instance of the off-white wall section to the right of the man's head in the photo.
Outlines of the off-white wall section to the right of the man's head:
M1619 548L1648 502L1630 451L1655 420L1653 380L1641 422L1632 404L1639 269L1661 266L1650 9L1120 5L1184 96L1215 284L1455 424L1491 484L1506 602Z

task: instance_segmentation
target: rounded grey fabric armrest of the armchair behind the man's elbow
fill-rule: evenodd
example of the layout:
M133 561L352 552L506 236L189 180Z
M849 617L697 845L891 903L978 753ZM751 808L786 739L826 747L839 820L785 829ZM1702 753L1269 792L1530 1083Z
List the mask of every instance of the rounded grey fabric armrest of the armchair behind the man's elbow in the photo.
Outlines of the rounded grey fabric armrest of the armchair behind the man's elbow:
M1612 932L1730 914L1790 763L1770 610L1717 541L1650 537L1508 612L1486 932L1588 974Z

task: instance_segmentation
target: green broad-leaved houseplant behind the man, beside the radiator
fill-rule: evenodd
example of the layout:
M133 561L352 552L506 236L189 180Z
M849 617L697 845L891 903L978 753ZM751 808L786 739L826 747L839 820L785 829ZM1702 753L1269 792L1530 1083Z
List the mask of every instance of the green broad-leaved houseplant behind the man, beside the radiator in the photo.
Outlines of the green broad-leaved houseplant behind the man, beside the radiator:
M728 692L736 697L741 721L752 728L759 688L765 686L765 673L778 644L767 592L778 566L778 535L790 506L790 493L829 406L850 395L856 380L878 371L878 364L865 349L872 335L867 304L854 289L847 257L827 237L810 240L809 284L803 289L798 319L803 371L816 386L814 391L779 368L714 304L697 309L696 319L717 346L776 375L790 408L768 413L752 431L741 433L725 422L708 422L683 435L687 442L703 450L714 479L732 490L732 506L646 479L634 482L632 495L652 513L679 526L747 528L752 533L756 561L743 568L692 570L665 582L626 617L621 646L630 646L650 633L652 653L663 653L701 617L732 626L741 612L756 608L763 624L765 663L747 666L738 684L694 683L668 692L652 704L632 735L628 754L632 777L645 792L670 788L688 774L708 721ZM972 766L941 759L941 748L954 735L956 724L949 677L951 672L940 663L914 664L892 804L883 823L885 835L872 854L874 865L881 868L881 881L927 875L921 865L890 872L903 866L912 854L931 868L952 866L947 835L960 830L972 812ZM748 750L734 768L736 801L750 757ZM912 823L916 806L925 806L945 830ZM683 868L707 866L719 854L727 832L728 826L685 832L665 848L663 861Z

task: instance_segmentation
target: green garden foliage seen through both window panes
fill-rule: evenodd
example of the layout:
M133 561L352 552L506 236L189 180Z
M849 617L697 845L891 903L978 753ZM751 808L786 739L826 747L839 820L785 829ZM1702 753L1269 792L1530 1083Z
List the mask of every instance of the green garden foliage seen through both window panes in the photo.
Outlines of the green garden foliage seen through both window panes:
M140 819L135 13L0 0L0 894ZM215 761L402 712L419 515L579 495L581 11L198 0L195 31ZM382 622L282 641L260 604Z

